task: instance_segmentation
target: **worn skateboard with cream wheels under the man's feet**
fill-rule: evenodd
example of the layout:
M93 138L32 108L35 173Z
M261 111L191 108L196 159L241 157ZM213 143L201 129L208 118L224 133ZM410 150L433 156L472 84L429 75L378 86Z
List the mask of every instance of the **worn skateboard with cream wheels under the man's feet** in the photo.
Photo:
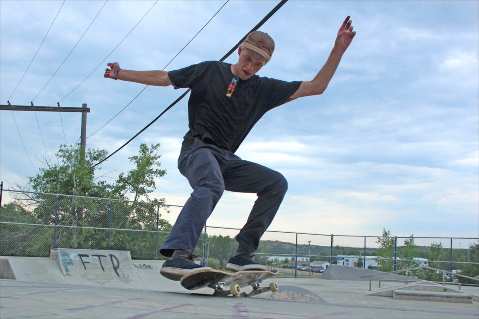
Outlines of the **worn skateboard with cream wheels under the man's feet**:
M273 277L277 273L277 270L244 270L236 273L227 273L216 269L202 269L184 275L180 279L180 283L188 290L209 287L214 289L213 295L231 294L232 296L249 297L266 291L278 291L278 285L274 282L269 284L269 287L259 286L264 279ZM249 285L253 288L251 292L241 292L241 287ZM224 289L223 286L228 288Z

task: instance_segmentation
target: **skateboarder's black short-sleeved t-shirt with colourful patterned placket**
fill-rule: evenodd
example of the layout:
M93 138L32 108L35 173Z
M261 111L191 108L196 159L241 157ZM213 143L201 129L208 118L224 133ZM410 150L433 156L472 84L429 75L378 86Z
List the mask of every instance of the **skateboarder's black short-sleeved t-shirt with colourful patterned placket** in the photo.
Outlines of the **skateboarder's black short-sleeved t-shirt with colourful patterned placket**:
M231 97L227 91L234 77L231 64L208 61L168 72L176 88L190 88L189 131L235 152L254 124L269 110L287 102L301 82L252 76L238 79Z

